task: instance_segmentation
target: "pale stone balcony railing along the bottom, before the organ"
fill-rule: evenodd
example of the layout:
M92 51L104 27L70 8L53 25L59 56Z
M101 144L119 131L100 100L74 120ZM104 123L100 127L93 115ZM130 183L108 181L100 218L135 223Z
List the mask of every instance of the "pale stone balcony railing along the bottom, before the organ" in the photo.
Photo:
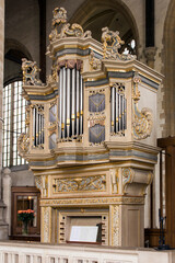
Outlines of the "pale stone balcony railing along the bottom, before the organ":
M173 263L175 251L88 244L0 242L1 263Z

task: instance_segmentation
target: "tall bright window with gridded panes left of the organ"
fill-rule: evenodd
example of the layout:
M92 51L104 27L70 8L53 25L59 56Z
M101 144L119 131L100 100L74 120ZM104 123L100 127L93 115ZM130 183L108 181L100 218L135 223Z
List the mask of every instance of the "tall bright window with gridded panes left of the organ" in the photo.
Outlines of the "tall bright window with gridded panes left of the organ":
M3 167L25 164L25 160L18 155L18 137L25 133L25 100L21 94L22 81L3 88Z

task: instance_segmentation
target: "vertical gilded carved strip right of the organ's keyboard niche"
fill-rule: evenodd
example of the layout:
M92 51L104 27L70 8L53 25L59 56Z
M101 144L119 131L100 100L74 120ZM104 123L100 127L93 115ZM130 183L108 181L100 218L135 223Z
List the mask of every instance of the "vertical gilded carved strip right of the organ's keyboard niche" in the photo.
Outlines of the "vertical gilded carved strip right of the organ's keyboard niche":
M112 207L113 209L113 215L112 215L112 220L113 220L113 245L120 245L119 241L119 205L115 205Z

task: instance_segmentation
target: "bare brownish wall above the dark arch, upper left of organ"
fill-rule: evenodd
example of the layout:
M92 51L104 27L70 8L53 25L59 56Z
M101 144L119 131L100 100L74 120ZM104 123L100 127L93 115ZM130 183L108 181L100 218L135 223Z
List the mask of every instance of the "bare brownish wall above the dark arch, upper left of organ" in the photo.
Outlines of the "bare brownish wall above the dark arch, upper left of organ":
M39 62L39 9L38 1L8 1L5 9L5 38L22 43L32 58Z

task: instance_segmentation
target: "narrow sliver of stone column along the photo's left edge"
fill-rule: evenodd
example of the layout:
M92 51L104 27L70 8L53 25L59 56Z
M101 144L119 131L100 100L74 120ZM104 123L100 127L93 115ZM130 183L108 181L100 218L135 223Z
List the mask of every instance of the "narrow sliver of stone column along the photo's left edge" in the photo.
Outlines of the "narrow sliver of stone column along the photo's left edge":
M3 48L4 48L4 0L0 0L0 239L8 238L8 224L4 222L2 202L2 90L3 90Z

